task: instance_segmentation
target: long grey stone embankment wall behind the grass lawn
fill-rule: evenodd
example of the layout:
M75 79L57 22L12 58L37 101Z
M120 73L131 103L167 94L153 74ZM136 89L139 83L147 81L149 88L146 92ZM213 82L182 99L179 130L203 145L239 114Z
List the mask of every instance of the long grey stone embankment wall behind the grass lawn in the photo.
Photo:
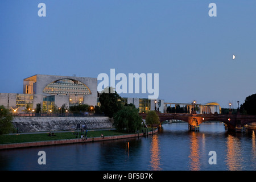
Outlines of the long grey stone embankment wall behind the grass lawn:
M19 132L76 130L77 124L86 129L112 128L109 117L14 117L13 126Z

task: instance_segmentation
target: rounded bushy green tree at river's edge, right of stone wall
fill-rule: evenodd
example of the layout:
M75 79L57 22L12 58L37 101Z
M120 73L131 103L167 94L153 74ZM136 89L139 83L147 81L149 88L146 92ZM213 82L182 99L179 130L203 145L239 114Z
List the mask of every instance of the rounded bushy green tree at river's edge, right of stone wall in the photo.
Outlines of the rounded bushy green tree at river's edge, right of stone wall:
M114 114L113 119L113 126L117 131L126 130L129 133L135 133L142 128L142 117L134 105L123 106L121 110Z

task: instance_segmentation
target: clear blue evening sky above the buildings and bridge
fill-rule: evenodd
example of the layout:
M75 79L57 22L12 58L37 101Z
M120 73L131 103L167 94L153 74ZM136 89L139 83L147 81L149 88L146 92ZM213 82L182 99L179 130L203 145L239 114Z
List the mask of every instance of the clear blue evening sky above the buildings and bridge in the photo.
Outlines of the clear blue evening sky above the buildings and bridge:
M217 17L208 15L212 2ZM97 77L114 68L159 73L165 102L242 104L256 93L255 18L254 0L1 0L0 93L22 93L36 74Z

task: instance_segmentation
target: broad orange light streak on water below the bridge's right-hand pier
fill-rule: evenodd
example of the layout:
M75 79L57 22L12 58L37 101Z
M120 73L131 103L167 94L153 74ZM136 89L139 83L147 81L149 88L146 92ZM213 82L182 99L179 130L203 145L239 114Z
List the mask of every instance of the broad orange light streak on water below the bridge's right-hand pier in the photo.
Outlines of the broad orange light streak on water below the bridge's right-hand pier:
M242 170L242 154L241 154L241 142L238 138L228 135L226 142L226 165L229 171Z

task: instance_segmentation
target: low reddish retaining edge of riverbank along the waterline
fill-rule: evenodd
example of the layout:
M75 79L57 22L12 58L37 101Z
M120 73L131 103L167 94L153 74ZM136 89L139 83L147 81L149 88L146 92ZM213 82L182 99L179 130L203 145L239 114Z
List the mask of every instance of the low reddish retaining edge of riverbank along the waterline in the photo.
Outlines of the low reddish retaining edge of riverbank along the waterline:
M117 140L117 139L125 139L125 138L143 137L146 135L155 134L157 132L158 132L158 129L155 129L153 131L148 131L145 133L138 133L138 134L123 134L123 135L112 135L112 136L104 136L104 137L88 136L87 139L75 138L75 139L61 139L61 140L45 140L45 141L38 141L38 142L0 144L0 150L11 149L11 148L49 146L49 145L57 145L57 144L72 144L72 143L97 142L97 141L104 141L104 140Z

